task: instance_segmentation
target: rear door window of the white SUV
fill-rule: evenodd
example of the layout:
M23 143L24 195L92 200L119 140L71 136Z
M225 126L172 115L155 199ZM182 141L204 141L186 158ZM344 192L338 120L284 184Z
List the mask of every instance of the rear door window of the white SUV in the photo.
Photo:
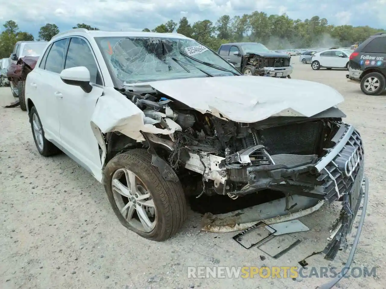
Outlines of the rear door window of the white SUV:
M61 39L54 42L48 52L46 66L44 69L56 73L62 72L64 69L64 59L68 47L69 38Z

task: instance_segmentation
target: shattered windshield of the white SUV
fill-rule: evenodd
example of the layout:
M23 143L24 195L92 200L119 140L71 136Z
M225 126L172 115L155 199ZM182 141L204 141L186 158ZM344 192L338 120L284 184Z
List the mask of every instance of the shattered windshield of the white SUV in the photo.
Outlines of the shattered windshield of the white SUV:
M238 73L229 62L191 39L95 37L95 40L110 71L123 83L208 77L208 74L211 76L234 75L199 63L189 56Z

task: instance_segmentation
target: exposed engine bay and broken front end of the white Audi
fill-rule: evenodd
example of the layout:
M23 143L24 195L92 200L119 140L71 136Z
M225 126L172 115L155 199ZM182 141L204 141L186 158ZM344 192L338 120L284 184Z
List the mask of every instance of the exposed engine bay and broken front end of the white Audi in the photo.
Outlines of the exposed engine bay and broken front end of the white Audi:
M343 126L339 109L312 118L238 123L202 114L160 92L121 93L143 111L145 124L173 128L171 134L142 132L146 139L142 143L151 144L153 153L168 162L181 183L196 185L197 195L237 198L270 188L325 198L323 190L315 188L331 183L318 178L315 163L334 145L332 138Z

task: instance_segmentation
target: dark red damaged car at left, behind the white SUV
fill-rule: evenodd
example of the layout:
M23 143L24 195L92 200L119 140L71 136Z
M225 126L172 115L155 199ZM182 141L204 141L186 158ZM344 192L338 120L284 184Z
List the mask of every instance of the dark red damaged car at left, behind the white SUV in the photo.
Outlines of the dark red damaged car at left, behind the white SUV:
M19 97L7 108L15 107L20 104L23 111L27 110L25 105L25 79L29 72L34 69L41 52L46 47L46 41L19 41L16 42L14 51L9 57L7 77L10 82L12 95Z

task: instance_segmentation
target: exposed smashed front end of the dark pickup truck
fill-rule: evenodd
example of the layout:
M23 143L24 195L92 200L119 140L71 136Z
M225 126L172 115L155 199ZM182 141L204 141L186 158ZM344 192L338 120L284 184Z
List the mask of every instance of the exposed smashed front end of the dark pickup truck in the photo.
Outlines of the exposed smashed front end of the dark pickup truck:
M259 54L247 53L242 58L242 67L253 68L255 76L269 76L268 67L289 67L290 57L266 57Z

